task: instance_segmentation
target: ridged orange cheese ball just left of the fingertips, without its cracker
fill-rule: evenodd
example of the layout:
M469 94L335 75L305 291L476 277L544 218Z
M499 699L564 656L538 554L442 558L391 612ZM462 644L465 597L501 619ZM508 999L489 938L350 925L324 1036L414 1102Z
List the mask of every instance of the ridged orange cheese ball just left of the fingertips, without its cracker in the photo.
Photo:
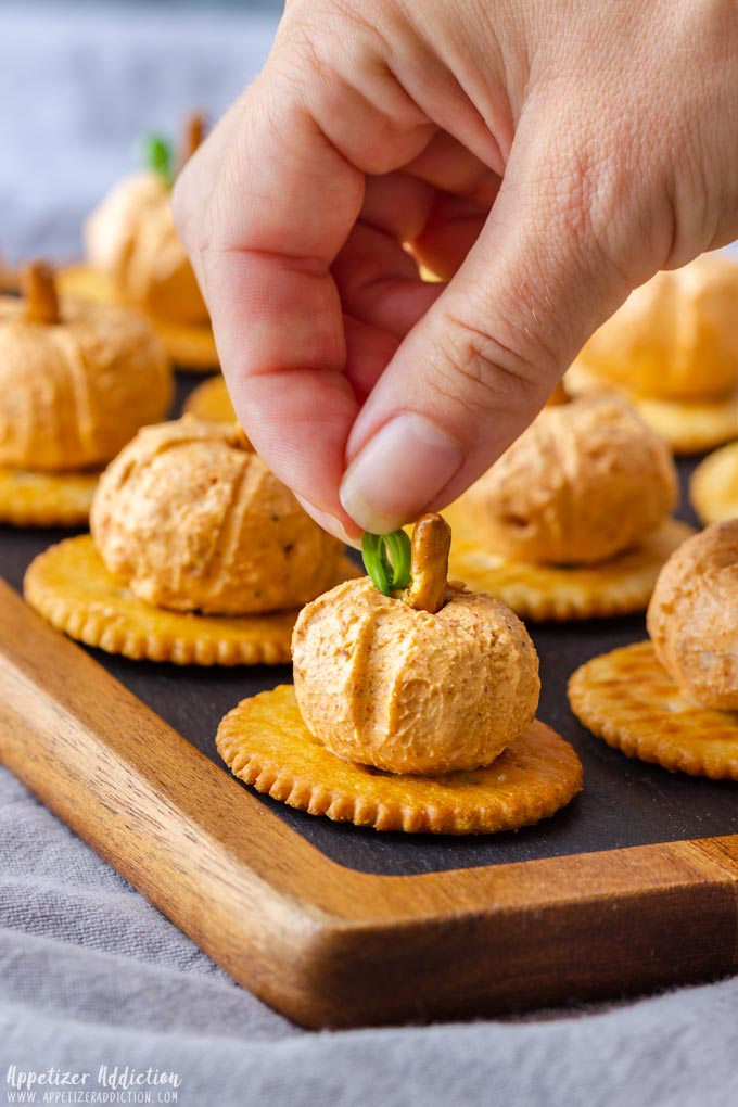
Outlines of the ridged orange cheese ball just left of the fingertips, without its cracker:
M145 427L115 458L90 527L135 596L209 614L299 607L332 584L343 550L238 427L189 416Z

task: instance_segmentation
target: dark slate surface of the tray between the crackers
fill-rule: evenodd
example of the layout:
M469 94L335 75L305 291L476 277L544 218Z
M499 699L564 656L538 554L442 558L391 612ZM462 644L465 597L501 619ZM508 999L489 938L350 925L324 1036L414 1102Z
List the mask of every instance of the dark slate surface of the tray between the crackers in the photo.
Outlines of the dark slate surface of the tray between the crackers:
M180 382L179 401L194 383L191 377ZM683 487L693 468L693 462L680 463ZM696 521L686 506L679 514ZM0 528L0 575L20 589L29 561L70 532ZM584 765L584 792L554 818L490 837L408 836L333 824L268 797L261 797L262 801L332 860L391 876L738 832L735 784L669 774L631 761L594 738L569 710L565 689L571 672L597 653L645 638L642 615L529 629L541 659L539 717L575 746ZM239 700L291 679L288 665L183 669L128 661L101 650L89 652L218 765L222 763L214 736L221 716ZM228 772L225 766L224 772Z

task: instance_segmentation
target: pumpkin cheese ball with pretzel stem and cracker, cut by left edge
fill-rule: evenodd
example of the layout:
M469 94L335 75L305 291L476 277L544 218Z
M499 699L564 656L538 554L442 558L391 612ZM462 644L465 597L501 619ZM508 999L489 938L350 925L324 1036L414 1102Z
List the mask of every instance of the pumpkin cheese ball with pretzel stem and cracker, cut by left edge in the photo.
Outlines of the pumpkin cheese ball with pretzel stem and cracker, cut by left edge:
M171 402L166 352L145 319L59 299L42 263L0 298L0 517L86 520L97 472Z

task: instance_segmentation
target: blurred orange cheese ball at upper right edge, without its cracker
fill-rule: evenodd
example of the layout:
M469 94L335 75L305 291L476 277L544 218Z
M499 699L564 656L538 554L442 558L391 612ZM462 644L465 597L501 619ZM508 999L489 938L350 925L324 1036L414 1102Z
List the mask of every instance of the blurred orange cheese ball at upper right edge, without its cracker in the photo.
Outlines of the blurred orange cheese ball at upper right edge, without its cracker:
M643 396L717 397L738 384L737 320L738 266L705 254L635 289L580 360Z

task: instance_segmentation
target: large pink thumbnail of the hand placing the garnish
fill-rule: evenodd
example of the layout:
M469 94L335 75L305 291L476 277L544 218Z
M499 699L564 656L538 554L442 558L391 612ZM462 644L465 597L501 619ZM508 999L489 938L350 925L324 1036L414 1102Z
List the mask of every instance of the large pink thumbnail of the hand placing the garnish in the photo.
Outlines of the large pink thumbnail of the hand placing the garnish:
M461 467L458 443L424 415L396 415L364 446L341 484L346 514L375 535L409 523Z

